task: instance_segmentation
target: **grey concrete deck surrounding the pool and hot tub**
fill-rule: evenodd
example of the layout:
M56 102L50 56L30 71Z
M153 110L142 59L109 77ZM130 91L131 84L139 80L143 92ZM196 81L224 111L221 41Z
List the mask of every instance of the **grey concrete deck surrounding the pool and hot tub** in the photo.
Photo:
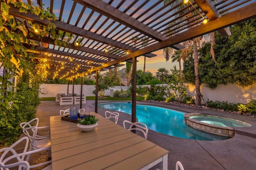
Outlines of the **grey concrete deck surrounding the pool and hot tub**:
M104 101L98 101L103 103ZM105 101L106 102L106 101ZM109 101L107 101L109 102ZM220 141L204 141L177 138L153 130L148 131L148 140L169 150L168 170L175 169L175 164L180 161L185 170L254 170L256 167L256 118L219 112L185 105L173 105L161 102L137 102L137 104L166 107L184 113L205 113L230 117L250 123L252 127L237 127L233 138ZM94 111L94 101L87 100L82 104L86 111ZM60 115L60 110L80 105L58 105L55 101L41 101L36 116L40 126L49 125L49 117ZM98 114L104 116L106 109L98 108ZM130 120L131 115L120 113L118 125L122 126L124 120ZM32 162L37 162L44 155L32 157ZM47 157L47 156L46 156Z

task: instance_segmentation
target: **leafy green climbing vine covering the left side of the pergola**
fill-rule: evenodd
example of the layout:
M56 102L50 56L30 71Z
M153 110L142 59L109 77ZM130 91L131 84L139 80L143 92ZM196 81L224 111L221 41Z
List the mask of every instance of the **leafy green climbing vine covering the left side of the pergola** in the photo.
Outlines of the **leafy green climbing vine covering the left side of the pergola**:
M32 21L18 20L14 16L9 14L11 7L19 8L19 12L30 12L37 16L40 16L41 20L48 20L48 25L42 25L34 23ZM0 142L4 145L11 144L18 137L20 130L19 123L24 121L22 116L18 113L19 107L24 103L24 93L14 91L14 80L13 77L22 75L22 72L29 72L34 75L32 80L33 83L39 83L41 74L36 74L36 70L43 69L47 65L37 65L34 60L34 53L28 52L28 49L24 44L30 45L33 49L35 43L39 45L39 40L43 36L52 38L55 45L66 46L66 44L72 39L70 34L65 34L62 39L63 32L56 31L56 26L52 21L56 20L56 16L50 13L49 9L44 9L36 4L26 4L23 2L16 2L14 0L1 1L0 11L0 69L3 72L0 75ZM29 38L38 38L38 41L32 41ZM45 76L45 75L44 75ZM27 81L26 97L30 97L32 91L33 94L38 95L39 86L32 85L30 81ZM21 83L20 83L21 84ZM33 86L33 88L31 87ZM25 87L22 85L21 87ZM20 89L22 89L20 87ZM34 88L36 87L36 88ZM33 96L34 99L38 97ZM23 99L23 100L22 100ZM36 102L33 107L36 108L39 103ZM29 109L28 111L34 109ZM35 113L35 112L33 112ZM28 113L30 114L30 113ZM30 115L28 118L32 118ZM23 116L24 118L24 116Z

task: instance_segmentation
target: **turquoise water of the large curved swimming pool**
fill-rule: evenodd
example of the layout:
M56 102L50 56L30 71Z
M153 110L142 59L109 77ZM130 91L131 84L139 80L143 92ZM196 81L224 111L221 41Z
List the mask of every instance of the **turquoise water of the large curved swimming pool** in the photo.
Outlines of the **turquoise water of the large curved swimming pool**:
M98 108L121 111L132 114L132 103L100 103ZM176 136L179 138L196 140L225 140L224 136L218 136L196 130L184 123L184 113L148 105L136 105L136 117L139 122L145 123L149 129L156 132Z

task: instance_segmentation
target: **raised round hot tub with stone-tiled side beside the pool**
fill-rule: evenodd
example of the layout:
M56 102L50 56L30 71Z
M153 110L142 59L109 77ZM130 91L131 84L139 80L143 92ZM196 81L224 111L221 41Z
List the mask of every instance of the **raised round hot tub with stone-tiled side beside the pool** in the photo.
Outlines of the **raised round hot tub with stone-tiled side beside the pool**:
M186 113L184 120L192 128L227 137L234 136L234 127L251 127L249 123L236 119L199 113Z

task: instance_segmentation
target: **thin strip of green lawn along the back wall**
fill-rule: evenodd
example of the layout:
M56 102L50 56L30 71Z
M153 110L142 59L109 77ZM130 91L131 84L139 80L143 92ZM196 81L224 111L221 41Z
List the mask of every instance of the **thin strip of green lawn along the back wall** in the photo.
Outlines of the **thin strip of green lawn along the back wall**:
M132 97L126 97L126 98L120 98L120 97L110 97L105 96L106 99L98 99L98 100L109 100L109 101L126 101L132 100ZM95 96L86 96L86 100L95 100ZM144 100L144 97L142 96L136 96L136 101L142 101ZM42 97L40 98L40 101L55 101L55 97Z

